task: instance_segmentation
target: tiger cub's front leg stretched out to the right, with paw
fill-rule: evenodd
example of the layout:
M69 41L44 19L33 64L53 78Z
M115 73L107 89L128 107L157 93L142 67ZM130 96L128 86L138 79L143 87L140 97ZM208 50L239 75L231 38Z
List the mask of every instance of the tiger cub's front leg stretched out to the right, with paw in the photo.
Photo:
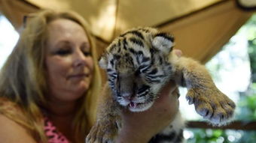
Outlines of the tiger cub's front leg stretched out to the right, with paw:
M215 125L225 124L233 115L235 103L218 90L206 67L191 58L171 59L175 64L175 81L187 87L186 98L199 115ZM177 78L178 77L178 78Z

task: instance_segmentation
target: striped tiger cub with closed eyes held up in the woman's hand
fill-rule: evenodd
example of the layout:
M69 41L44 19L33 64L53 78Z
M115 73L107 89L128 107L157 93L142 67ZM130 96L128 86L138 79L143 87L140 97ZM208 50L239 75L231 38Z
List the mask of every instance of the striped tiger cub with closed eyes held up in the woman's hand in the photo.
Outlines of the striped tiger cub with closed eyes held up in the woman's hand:
M149 109L170 80L187 88L188 103L212 124L225 124L232 117L235 104L216 88L206 68L191 58L178 58L173 46L172 35L155 28L133 28L114 39L99 60L108 85L86 142L113 142L121 127L120 110ZM182 142L183 127L178 113L150 142Z

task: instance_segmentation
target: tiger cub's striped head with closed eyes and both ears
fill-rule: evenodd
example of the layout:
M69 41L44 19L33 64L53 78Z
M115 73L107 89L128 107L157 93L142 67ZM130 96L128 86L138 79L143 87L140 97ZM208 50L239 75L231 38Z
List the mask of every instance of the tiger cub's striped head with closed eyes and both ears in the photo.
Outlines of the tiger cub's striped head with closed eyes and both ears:
M132 112L149 109L169 76L173 37L154 28L135 28L117 37L99 60L114 100Z

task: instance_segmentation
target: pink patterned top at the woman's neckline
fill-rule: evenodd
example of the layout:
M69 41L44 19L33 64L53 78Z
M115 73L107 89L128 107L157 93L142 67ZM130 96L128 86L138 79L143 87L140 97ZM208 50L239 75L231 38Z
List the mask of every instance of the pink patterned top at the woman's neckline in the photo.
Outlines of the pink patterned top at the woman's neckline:
M44 133L48 138L48 143L70 143L46 116L44 116Z

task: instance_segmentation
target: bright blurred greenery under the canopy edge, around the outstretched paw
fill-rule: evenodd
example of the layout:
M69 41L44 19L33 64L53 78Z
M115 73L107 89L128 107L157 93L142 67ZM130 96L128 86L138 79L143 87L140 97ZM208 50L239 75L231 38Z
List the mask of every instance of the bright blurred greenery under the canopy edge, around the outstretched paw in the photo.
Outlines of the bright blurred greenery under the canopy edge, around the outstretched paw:
M195 121L195 128L184 131L187 142L237 142L256 141L256 14L239 28L221 50L206 62L217 87L236 102L233 124L227 128L204 126L194 106L188 106L181 97L181 111L189 121ZM182 96L186 90L181 88ZM194 125L193 125L194 126ZM201 129L200 129L201 127ZM202 129L203 128L203 129Z

